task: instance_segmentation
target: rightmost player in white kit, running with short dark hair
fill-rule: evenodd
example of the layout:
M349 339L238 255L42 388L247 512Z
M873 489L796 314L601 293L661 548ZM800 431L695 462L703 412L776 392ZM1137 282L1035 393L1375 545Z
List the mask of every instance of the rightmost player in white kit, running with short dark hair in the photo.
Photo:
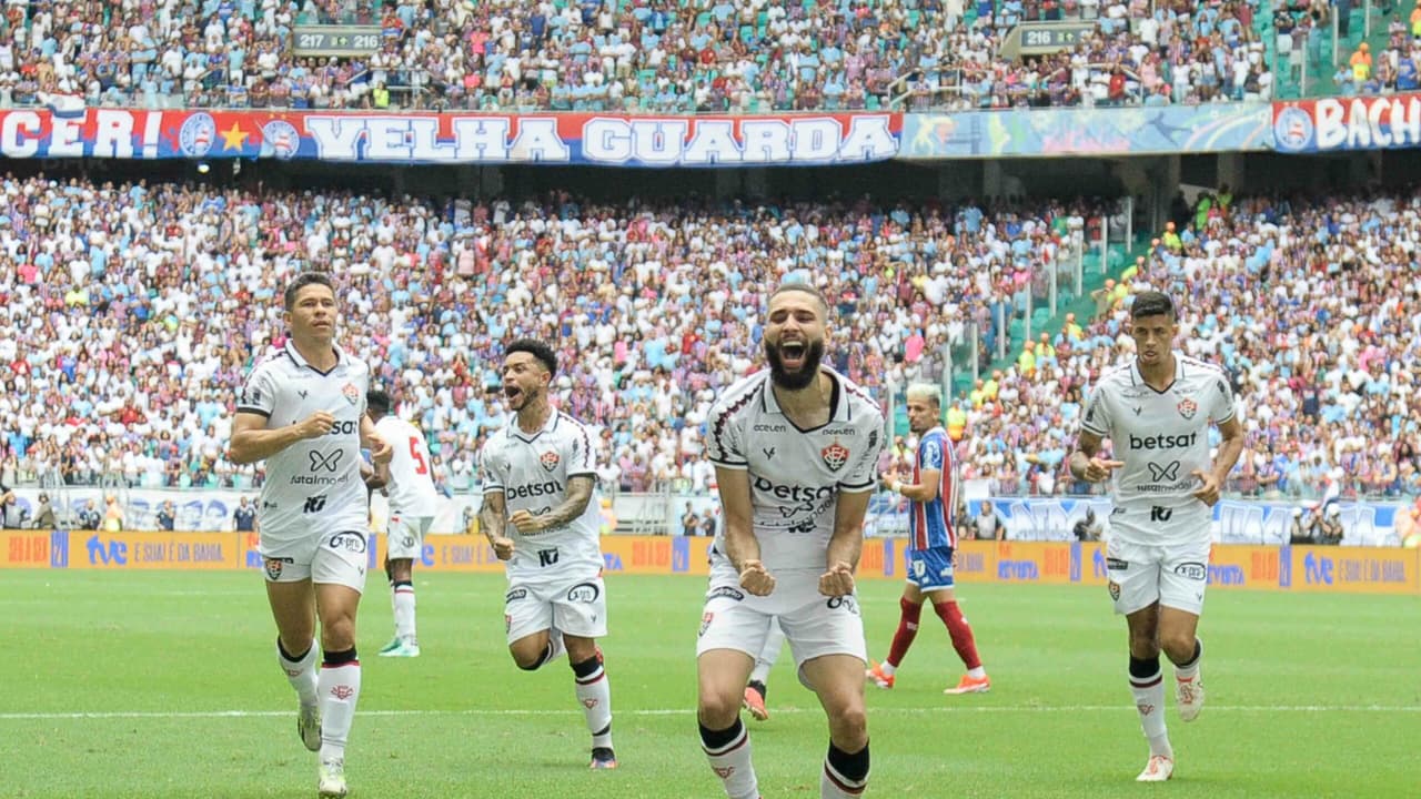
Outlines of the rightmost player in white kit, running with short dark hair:
M1106 570L1115 613L1130 628L1130 688L1150 741L1140 782L1174 773L1164 721L1160 650L1174 664L1182 721L1204 709L1196 636L1209 576L1211 508L1243 451L1229 381L1216 367L1172 350L1179 334L1174 301L1141 291L1130 306L1133 363L1101 375L1081 418L1071 475L1113 481ZM1209 463L1209 424L1222 441ZM1101 456L1110 438L1115 459Z

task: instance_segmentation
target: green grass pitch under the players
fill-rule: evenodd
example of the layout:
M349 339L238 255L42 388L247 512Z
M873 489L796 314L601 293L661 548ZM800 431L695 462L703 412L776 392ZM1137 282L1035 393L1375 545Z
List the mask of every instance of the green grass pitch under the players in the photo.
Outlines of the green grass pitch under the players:
M621 768L600 773L567 661L526 674L507 655L503 579L416 573L416 586L418 660L375 657L391 636L377 576L362 607L354 798L723 796L695 732L702 579L608 579ZM898 591L860 586L874 657ZM1147 749L1104 590L961 594L993 690L942 695L961 663L925 614L898 687L868 690L870 796L1421 796L1414 597L1214 591L1208 705L1185 725L1169 697L1178 768L1151 786L1133 782ZM0 796L314 796L257 573L7 572L0 608ZM817 796L827 732L787 653L770 711L745 717L766 799Z

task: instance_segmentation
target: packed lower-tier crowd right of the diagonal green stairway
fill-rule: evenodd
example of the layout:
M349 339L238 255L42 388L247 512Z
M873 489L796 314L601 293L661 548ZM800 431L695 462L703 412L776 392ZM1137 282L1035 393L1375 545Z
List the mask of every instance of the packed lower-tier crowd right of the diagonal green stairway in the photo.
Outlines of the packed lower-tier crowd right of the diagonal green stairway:
M1087 490L1063 461L1090 387L1133 353L1133 291L1168 291L1184 351L1223 367L1246 446L1228 489L1421 495L1421 200L1411 193L1175 203L1152 250L949 411L968 479L999 495ZM1216 432L1212 434L1216 444ZM905 442L911 446L911 441ZM908 452L908 449L901 449Z

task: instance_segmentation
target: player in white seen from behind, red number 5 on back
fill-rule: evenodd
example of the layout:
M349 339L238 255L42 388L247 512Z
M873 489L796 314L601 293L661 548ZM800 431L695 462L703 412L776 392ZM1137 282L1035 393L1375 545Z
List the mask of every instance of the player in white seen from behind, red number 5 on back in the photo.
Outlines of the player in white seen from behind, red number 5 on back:
M419 657L415 636L415 560L421 557L425 536L435 522L439 493L429 472L429 444L419 428L389 414L389 395L371 391L365 412L375 422L375 432L389 442L385 493L389 496L389 532L385 547L385 576L389 577L391 603L395 610L395 637L382 657Z

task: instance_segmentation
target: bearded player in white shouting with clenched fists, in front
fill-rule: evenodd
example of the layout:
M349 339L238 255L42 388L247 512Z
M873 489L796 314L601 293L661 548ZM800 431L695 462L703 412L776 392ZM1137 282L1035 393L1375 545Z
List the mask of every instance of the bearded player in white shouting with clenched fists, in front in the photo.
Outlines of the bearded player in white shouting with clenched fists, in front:
M868 655L854 569L884 417L864 390L820 365L827 316L813 287L777 289L763 340L770 368L730 385L706 422L725 525L710 547L696 645L698 719L730 799L759 796L740 704L776 621L828 717L820 796L858 796L868 783Z

